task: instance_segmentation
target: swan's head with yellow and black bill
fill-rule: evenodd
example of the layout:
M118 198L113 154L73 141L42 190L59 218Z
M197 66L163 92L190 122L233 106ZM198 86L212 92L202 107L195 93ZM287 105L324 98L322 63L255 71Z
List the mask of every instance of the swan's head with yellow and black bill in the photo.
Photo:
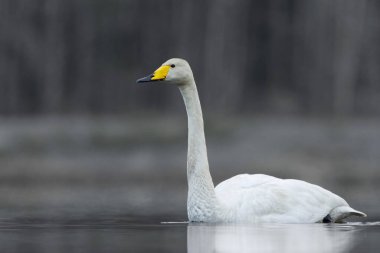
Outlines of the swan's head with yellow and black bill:
M163 81L166 83L173 83L183 85L193 79L193 72L191 71L189 63L183 59L173 58L167 60L161 65L153 74L140 78L138 83Z

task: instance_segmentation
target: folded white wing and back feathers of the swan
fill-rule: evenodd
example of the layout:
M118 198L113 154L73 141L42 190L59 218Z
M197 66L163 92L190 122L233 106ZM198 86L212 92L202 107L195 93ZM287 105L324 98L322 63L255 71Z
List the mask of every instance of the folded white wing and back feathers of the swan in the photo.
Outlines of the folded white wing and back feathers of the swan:
M261 174L235 176L220 183L215 192L228 210L226 218L234 221L319 222L335 208L349 207L344 199L317 185Z

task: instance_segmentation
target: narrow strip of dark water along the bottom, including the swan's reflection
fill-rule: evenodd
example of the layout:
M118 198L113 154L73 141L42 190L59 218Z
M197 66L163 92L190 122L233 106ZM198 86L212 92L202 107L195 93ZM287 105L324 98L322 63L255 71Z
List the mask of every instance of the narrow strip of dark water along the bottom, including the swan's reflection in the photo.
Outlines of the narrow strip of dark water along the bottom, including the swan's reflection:
M203 224L104 219L0 220L0 252L378 252L380 222Z

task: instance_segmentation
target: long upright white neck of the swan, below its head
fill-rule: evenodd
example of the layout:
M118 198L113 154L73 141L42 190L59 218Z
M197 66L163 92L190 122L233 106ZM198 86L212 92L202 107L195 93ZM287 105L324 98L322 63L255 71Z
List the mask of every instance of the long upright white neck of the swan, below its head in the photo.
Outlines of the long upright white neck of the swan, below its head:
M217 199L207 159L202 109L194 80L179 86L188 117L187 213L190 221L214 221Z

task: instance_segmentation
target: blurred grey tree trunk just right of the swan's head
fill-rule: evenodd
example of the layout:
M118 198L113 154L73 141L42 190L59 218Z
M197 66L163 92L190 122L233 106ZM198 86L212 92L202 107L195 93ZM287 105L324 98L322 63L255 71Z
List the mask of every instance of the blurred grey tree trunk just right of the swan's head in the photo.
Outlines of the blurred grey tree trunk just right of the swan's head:
M210 2L205 37L204 83L213 110L239 106L247 66L247 1Z

